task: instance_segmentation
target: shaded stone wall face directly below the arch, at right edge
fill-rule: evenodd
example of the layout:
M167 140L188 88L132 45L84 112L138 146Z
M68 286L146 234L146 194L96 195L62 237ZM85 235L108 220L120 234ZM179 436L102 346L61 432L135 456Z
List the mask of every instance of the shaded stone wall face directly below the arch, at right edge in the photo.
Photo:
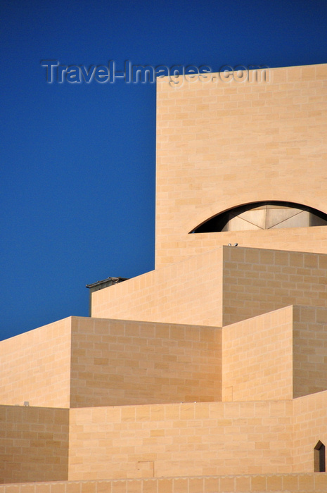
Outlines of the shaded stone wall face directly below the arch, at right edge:
M327 255L223 246L223 325L283 306L327 307Z

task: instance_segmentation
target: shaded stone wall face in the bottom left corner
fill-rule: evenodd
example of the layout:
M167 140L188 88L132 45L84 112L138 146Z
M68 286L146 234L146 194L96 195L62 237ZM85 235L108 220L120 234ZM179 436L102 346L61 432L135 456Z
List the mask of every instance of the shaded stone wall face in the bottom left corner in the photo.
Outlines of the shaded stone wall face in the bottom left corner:
M0 482L68 480L69 410L0 406Z

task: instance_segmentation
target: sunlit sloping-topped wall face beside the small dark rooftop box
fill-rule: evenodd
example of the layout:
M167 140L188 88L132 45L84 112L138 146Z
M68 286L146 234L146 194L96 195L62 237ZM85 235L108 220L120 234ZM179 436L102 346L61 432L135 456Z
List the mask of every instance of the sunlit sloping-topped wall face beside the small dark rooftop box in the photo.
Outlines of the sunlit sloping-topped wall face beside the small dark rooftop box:
M92 316L222 326L222 249L92 294Z

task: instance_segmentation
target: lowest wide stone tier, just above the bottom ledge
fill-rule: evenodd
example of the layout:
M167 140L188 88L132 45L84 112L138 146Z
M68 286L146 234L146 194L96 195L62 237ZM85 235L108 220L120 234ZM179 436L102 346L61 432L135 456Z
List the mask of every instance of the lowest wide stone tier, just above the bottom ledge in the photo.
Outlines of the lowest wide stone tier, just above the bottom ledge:
M283 401L0 406L0 482L313 472L326 406L327 391Z

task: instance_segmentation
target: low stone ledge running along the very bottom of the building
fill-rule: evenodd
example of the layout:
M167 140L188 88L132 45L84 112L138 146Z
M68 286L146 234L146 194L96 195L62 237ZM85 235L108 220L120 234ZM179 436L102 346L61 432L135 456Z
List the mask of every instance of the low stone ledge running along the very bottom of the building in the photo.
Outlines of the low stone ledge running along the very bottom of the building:
M326 493L326 473L222 475L0 485L0 493Z

